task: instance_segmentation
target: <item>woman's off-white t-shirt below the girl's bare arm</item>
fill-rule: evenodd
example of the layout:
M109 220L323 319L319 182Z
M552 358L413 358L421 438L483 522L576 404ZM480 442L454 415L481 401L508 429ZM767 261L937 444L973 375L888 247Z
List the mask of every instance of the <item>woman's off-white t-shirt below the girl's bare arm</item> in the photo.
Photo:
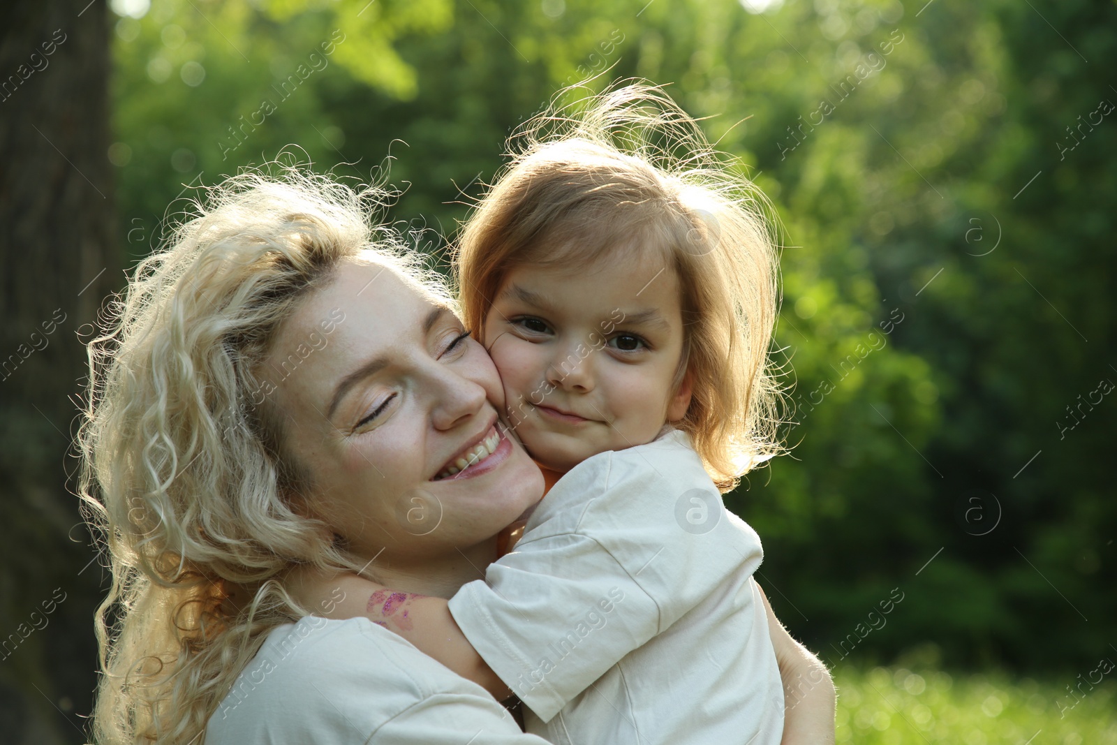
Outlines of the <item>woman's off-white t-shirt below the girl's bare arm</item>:
M363 618L274 629L206 745L546 745L480 686Z

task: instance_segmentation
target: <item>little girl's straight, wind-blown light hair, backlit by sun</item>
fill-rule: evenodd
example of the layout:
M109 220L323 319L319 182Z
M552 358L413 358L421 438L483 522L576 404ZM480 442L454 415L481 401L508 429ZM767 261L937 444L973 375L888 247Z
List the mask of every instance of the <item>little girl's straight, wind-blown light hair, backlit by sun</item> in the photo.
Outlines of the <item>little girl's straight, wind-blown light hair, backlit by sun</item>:
M727 491L779 450L774 211L661 89L634 83L580 105L553 104L509 140L512 161L457 245L465 321L480 334L515 267L661 252L682 307L676 385L689 373L693 388L677 426Z

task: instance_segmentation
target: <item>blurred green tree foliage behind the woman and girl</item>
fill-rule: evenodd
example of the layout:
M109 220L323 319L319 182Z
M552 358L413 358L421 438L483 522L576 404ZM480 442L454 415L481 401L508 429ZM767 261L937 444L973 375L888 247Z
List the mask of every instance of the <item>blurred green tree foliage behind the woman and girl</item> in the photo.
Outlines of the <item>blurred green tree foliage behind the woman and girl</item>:
M1081 403L1117 381L1117 130L1080 124L1117 102L1114 28L1086 0L166 0L116 26L122 225L142 256L183 185L293 143L362 180L390 153L395 218L451 235L556 89L670 83L786 236L795 447L729 498L780 615L829 653L899 588L858 658L1073 669L1117 615L1117 403Z

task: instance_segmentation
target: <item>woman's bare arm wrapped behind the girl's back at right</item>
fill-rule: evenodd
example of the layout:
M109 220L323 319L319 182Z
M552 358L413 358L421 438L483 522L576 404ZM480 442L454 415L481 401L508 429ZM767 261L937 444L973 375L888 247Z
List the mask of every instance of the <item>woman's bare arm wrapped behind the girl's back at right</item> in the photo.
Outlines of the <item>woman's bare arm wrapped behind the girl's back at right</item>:
M760 585L757 585L758 588ZM781 745L833 745L838 694L830 671L805 647L792 639L772 612L761 590L768 633L783 679L784 720Z

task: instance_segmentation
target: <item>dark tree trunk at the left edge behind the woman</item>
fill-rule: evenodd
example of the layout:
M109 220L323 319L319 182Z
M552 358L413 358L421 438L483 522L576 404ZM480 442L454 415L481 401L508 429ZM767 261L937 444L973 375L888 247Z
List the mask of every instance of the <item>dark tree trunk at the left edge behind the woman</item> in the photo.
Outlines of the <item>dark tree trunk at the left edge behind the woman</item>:
M121 285L106 6L4 3L0 35L0 738L85 743L103 577L71 399L79 335Z

